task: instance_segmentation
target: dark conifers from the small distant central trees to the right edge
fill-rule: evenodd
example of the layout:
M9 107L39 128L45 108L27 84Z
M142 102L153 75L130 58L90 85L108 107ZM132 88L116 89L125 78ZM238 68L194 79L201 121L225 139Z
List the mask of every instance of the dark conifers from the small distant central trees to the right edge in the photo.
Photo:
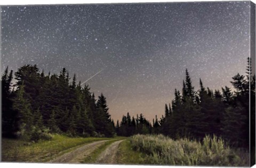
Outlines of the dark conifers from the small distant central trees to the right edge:
M156 116L150 124L142 114L131 119L127 113L121 122L117 121L117 135L161 133L173 139L197 140L205 135L217 135L231 146L247 148L250 144L249 110L251 141L255 139L255 74L252 75L250 58L247 58L246 75L238 73L232 77L231 84L235 91L227 86L213 91L199 79L200 87L196 91L186 69L182 91L174 90L174 100L169 106L165 104L165 115L159 120Z

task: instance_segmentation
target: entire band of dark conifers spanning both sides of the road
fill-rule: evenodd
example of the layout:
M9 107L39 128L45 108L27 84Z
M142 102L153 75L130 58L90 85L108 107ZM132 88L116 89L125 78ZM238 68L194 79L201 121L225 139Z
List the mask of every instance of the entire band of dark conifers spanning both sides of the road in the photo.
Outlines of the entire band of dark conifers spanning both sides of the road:
M2 135L31 141L50 139L50 133L70 137L164 134L172 139L199 141L215 135L230 146L248 149L249 103L251 124L255 125L255 74L251 72L250 58L245 71L246 75L230 77L233 88L211 90L199 79L199 90L195 90L196 81L191 81L186 69L182 90L175 89L172 102L163 105L162 117L155 116L151 122L143 114L134 117L120 111L125 115L115 123L106 97L101 93L95 98L89 85L77 83L76 75L70 77L65 68L59 74L44 74L36 65L22 66L15 73L7 67L1 80ZM251 134L254 138L255 134Z

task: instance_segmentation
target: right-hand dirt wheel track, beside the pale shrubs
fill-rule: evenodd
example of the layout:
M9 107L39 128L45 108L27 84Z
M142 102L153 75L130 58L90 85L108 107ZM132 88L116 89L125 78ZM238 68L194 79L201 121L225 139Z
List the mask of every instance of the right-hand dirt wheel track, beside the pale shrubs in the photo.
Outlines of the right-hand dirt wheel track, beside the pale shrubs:
M105 149L97 159L96 163L102 164L116 164L117 161L117 150L121 142L124 140L119 140L111 143L111 145Z

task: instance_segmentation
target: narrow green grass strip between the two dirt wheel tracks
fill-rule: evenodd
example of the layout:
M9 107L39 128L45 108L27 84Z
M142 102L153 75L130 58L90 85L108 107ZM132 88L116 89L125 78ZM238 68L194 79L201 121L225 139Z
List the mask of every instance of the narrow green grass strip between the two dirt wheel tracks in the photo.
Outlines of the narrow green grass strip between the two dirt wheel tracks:
M123 138L121 138L123 139ZM81 163L95 163L97 161L97 158L99 157L99 155L102 153L102 151L104 151L105 149L107 149L108 146L110 146L113 142L115 141L119 141L121 139L113 139L110 141L107 141L105 143L103 143L103 145L99 146L97 149L95 149L90 156L87 156L84 158L84 161L82 161Z

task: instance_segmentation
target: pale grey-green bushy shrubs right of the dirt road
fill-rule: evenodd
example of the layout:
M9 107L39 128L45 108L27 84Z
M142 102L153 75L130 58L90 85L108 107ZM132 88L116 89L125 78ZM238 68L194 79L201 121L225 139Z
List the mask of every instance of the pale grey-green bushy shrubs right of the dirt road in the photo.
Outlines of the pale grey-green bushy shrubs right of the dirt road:
M133 150L147 154L147 164L249 166L249 154L229 148L217 137L206 136L202 142L172 140L164 135L134 135Z

